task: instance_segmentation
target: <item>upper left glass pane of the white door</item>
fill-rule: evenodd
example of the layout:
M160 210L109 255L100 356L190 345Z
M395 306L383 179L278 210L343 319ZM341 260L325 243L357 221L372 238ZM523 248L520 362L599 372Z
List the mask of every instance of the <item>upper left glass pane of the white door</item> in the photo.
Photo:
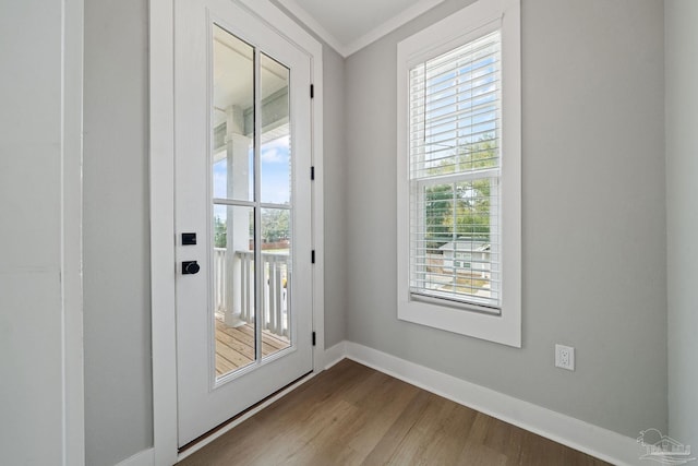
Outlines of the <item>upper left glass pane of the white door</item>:
M214 25L213 195L254 199L254 49Z

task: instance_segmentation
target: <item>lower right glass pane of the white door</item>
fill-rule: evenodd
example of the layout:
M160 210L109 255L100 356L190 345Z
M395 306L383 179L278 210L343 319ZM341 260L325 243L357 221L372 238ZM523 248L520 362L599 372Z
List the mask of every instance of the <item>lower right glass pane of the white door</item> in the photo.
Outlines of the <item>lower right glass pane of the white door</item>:
M287 208L262 210L262 355L270 356L290 346L291 238Z

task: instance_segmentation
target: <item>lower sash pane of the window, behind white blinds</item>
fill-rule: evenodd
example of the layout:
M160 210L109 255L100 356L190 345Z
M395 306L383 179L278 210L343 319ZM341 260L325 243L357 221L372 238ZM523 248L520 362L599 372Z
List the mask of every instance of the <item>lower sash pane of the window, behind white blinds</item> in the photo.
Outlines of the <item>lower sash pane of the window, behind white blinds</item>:
M412 200L414 292L495 307L500 298L498 180L424 186Z

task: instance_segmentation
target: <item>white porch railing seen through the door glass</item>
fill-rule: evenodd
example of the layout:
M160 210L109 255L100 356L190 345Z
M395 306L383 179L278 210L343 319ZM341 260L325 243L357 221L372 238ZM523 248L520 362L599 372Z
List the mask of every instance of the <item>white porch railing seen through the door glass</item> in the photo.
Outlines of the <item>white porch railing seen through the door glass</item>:
M262 252L262 328L289 336L288 254ZM255 320L254 252L214 249L214 298L216 312L226 323L253 323Z

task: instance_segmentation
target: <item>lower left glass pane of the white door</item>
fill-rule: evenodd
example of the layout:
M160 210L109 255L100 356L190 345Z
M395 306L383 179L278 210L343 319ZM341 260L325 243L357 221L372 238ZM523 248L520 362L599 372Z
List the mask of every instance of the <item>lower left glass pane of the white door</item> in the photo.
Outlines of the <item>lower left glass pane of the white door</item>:
M255 361L254 208L214 205L216 375Z

